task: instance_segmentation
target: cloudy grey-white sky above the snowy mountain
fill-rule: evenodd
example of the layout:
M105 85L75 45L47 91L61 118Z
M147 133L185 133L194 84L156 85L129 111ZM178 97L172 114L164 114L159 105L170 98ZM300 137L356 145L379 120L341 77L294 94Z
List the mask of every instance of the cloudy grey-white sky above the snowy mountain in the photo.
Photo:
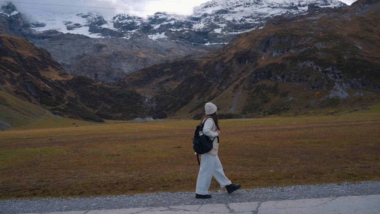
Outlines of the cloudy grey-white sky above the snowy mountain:
M208 0L17 0L14 3L17 9L22 13L27 13L28 10L38 9L43 11L51 11L55 13L69 13L69 12L95 12L97 11L104 16L105 19L112 19L116 14L126 13L136 16L152 15L158 11L166 11L173 13L192 13L194 6L199 6ZM278 0L275 0L278 1ZM12 2L12 1L10 1ZM342 0L347 5L351 5L354 0ZM4 4L0 2L1 5ZM84 7L97 7L97 8L84 8L84 7L71 7L71 6L53 6L53 5L35 5L26 3L39 3L39 4L54 4L54 5L71 5L71 6L84 6ZM114 10L114 9L101 9L101 8L119 8L127 10Z

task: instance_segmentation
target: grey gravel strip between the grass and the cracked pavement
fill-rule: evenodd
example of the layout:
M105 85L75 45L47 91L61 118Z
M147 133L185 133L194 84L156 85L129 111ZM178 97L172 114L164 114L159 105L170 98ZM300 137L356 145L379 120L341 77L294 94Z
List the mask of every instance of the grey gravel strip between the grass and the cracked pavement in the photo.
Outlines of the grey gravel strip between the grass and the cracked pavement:
M242 188L244 188L244 184L242 184ZM227 194L225 190L210 193L212 195L210 199L196 199L194 192L178 192L91 198L6 200L0 201L0 214L169 207L378 195L380 194L380 181L242 189L232 194Z

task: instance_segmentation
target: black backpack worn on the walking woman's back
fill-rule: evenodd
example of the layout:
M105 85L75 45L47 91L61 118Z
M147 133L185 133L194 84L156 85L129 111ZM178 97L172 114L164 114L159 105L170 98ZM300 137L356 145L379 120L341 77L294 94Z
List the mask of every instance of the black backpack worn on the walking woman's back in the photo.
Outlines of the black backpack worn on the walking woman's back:
M204 122L206 122L207 119L208 118L206 118ZM201 162L199 162L198 155L203 155L203 154L206 154L207 152L210 152L212 150L212 142L213 142L210 139L210 137L202 133L204 122L202 123L202 125L196 126L194 138L193 138L193 149L194 149L194 152L196 152L196 158L198 160L199 165L201 165Z

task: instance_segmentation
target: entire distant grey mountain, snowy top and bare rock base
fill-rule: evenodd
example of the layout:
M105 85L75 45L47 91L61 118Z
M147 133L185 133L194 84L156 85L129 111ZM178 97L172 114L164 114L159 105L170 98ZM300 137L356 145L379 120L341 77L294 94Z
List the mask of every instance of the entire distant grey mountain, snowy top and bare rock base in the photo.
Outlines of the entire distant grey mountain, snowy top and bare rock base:
M276 15L307 13L311 5L345 6L336 0L214 0L195 7L187 17L118 14L105 20L91 13L46 13L40 21L24 24L16 8L8 5L1 23L5 23L3 33L26 37L45 48L68 72L114 83L149 65L215 50L238 34L263 27Z

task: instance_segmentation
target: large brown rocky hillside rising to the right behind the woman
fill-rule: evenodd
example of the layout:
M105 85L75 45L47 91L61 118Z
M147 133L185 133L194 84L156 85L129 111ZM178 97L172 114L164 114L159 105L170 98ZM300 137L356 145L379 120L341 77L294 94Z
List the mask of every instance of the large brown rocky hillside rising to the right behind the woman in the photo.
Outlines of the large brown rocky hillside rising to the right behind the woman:
M379 14L379 2L365 0L276 17L218 51L147 67L117 85L148 94L159 118L198 118L206 101L224 118L370 105L380 101Z

